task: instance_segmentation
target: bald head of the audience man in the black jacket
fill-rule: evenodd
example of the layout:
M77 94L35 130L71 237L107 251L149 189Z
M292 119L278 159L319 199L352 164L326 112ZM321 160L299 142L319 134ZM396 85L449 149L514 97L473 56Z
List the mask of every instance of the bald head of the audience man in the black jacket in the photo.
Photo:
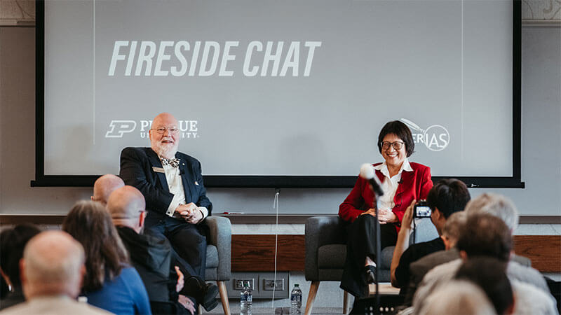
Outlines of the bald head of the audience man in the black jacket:
M139 222L138 218L144 209L144 196L133 186L123 186L115 190L107 202L107 210L115 225L126 225L130 228L142 228L143 222Z

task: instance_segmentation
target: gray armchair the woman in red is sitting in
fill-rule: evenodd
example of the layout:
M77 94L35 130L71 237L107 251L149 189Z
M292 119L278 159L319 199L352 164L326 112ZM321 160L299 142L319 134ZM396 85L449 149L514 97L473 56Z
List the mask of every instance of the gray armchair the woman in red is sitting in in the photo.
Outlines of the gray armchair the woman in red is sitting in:
M438 233L430 220L417 220L417 235L415 241L428 241L438 237ZM343 267L346 260L346 230L345 223L338 216L313 216L308 218L305 227L306 260L304 275L311 281L310 292L306 302L304 314L311 314L313 301L320 281L341 281ZM411 238L413 241L413 238ZM390 281L390 265L393 256L393 246L381 251L378 279L380 282ZM344 292L343 313L348 309L349 293Z

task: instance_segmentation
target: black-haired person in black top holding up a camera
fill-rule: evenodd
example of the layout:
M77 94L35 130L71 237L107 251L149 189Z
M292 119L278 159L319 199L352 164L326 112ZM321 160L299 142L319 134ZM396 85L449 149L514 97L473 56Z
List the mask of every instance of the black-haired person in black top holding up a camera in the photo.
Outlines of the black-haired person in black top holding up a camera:
M410 265L412 262L430 253L446 249L444 239L442 239L444 225L452 214L464 211L469 200L470 195L466 184L457 179L442 179L428 192L426 204L416 203L415 200L411 202L403 215L396 248L393 250L390 267L392 286L402 288L402 293L405 293L410 281ZM411 223L414 217L426 214L423 209L425 205L431 210L431 222L435 226L439 237L409 246Z

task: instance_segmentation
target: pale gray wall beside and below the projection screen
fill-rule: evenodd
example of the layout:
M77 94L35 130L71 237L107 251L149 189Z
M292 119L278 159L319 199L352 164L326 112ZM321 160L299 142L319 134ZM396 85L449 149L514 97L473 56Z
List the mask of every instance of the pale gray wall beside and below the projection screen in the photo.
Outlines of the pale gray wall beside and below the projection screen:
M471 193L503 193L522 214L561 216L560 27L523 27L522 77L522 180L526 188ZM90 196L90 188L29 187L35 172L34 91L34 28L0 27L0 214L65 214L76 200ZM336 214L349 190L283 189L280 211ZM273 195L273 189L265 188L209 190L215 213L272 214Z

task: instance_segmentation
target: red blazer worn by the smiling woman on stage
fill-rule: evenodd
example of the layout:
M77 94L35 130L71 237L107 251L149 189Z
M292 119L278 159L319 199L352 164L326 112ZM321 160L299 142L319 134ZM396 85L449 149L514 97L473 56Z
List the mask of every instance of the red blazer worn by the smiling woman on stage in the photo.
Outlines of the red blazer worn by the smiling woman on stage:
M381 163L376 163L380 165ZM399 223L405 214L405 209L409 207L413 200L426 200L428 190L433 187L431 180L431 168L419 163L410 162L413 172L401 172L401 182L396 190L393 202L396 204L391 211L398 216ZM380 181L384 181L384 175L376 170L376 175ZM364 211L372 208L374 204L374 193L370 189L369 183L360 178L356 181L353 190L346 197L345 201L339 206L339 217L344 221L355 221ZM399 224L396 224L399 232Z

